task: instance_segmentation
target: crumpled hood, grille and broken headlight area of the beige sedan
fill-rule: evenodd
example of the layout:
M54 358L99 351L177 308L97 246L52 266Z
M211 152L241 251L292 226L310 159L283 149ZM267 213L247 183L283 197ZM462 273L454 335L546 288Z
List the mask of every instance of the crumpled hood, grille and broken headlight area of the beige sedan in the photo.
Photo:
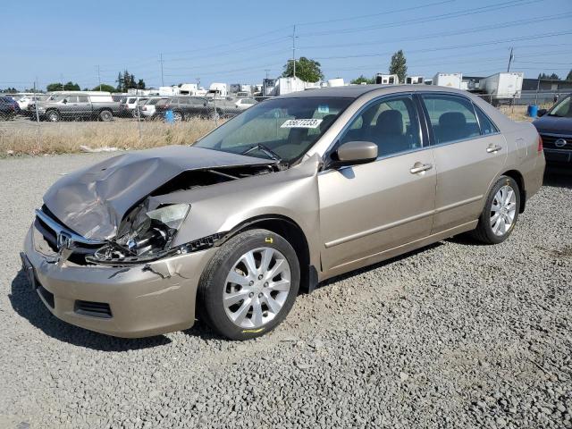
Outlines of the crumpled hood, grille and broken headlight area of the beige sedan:
M172 193L279 169L273 160L198 147L164 147L160 156L151 149L64 176L46 193L38 218L53 223L44 225L53 237L43 235L53 239L59 264L145 264L211 248L224 235L173 245L192 202L165 201Z

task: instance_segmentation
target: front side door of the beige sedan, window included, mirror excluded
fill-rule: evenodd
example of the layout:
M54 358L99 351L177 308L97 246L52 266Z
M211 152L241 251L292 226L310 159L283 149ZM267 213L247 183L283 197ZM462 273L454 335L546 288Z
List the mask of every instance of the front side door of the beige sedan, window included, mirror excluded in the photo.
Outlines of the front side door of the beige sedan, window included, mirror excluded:
M372 141L378 158L318 175L324 270L366 265L430 234L436 179L423 136L410 95L368 103L342 131L336 145Z

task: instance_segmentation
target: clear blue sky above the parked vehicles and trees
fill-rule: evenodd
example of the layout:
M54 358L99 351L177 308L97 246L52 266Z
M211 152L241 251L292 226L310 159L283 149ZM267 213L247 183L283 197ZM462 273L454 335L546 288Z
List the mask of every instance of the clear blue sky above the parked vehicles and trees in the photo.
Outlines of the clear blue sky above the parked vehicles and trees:
M572 68L572 0L168 2L27 0L3 4L0 88L38 78L115 85L127 68L146 81L258 83L292 55L322 63L327 79L372 76L403 49L409 75L511 70L566 76ZM562 34L567 33L567 34Z

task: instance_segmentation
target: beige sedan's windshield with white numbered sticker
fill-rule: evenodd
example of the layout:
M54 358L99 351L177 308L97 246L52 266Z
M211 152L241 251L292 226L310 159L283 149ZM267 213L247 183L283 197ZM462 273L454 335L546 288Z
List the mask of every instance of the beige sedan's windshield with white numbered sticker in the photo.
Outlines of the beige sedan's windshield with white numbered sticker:
M322 137L353 101L341 97L277 98L258 103L198 140L195 146L290 164ZM273 155L273 156L271 156Z

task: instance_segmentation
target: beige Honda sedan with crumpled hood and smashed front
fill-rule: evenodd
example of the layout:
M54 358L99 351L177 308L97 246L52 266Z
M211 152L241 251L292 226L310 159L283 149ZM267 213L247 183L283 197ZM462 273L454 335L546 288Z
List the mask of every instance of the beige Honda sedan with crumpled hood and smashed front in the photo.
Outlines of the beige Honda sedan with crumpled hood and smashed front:
M107 159L48 189L21 254L62 320L123 337L271 331L299 289L470 232L507 240L542 140L467 92L275 97L193 146Z

